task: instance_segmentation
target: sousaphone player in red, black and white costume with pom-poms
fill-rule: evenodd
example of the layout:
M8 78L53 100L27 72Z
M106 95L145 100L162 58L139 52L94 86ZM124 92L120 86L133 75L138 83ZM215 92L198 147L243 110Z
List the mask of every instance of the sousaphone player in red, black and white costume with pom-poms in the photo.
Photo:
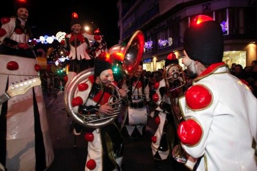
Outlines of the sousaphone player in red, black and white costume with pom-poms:
M78 85L79 92L72 99L74 111L84 115L96 112L110 115L114 112L112 106L107 104L109 97L116 93L113 88L108 87L109 82L114 80L111 68L108 61L96 59L94 75ZM126 97L123 89L119 93L121 97ZM90 110L93 108L98 111ZM78 135L81 130L78 131L78 126L76 128L74 131ZM84 137L88 142L85 170L121 170L123 139L115 123L96 129L82 127L82 130L86 132Z

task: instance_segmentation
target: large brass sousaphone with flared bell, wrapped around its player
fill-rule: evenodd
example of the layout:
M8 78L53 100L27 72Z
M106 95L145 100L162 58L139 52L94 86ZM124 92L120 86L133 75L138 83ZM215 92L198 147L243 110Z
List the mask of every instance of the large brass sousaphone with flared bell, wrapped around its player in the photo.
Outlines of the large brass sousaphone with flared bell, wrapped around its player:
M127 46L115 45L108 50L109 57L111 59L120 59L122 68L128 76L132 77L133 73L137 69L142 54L144 45L144 35L141 31L136 31L128 42ZM78 85L89 81L88 77L94 75L94 68L84 70L76 75L67 87L67 91L64 92L64 101L68 114L71 118L82 126L90 128L99 128L108 125L115 121L118 114L122 110L122 98L119 94L119 88L114 83L110 83L109 86L117 92L117 96L112 95L109 98L108 105L111 105L114 109L112 115L106 114L93 114L93 115L82 115L79 114L72 106L72 99L79 93ZM111 102L112 101L112 102ZM97 109L94 109L97 110Z

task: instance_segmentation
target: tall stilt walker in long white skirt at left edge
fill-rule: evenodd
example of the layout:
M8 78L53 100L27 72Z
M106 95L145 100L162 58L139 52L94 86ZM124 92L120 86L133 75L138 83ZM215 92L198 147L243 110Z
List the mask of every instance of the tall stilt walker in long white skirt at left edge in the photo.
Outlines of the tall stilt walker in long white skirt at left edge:
M24 1L23 1L24 2ZM0 92L11 83L38 77L40 66L26 24L27 4L16 2L17 17L2 18L0 29ZM1 96L3 97L3 96ZM7 170L44 170L53 161L53 148L40 86L0 105L0 163Z

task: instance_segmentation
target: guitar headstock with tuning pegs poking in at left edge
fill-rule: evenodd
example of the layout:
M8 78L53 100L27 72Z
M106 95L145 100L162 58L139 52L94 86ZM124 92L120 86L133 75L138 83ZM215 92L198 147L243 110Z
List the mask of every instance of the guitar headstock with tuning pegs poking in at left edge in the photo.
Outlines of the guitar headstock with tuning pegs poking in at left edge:
M41 80L39 77L12 84L8 87L8 90L4 94L0 95L0 105L5 101L9 100L11 97L25 94L30 88L40 85Z

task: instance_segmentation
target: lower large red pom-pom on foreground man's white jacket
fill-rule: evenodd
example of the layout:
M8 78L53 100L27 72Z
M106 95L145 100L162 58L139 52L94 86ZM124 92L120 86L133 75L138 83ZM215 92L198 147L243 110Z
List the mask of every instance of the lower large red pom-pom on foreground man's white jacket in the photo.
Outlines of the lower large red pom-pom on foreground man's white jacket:
M177 134L183 144L195 145L201 139L203 131L196 121L188 119L179 124Z

